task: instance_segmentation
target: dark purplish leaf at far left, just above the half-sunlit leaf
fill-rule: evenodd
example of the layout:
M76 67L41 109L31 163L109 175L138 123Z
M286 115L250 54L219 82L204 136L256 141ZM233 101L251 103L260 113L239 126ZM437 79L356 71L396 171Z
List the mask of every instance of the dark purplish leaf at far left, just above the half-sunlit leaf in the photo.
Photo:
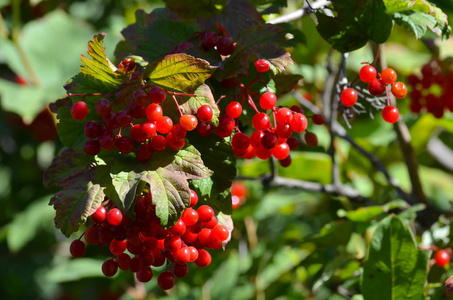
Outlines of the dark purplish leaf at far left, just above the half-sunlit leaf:
M56 156L43 175L44 186L63 187L74 177L88 172L94 158L85 153L82 148L69 148Z

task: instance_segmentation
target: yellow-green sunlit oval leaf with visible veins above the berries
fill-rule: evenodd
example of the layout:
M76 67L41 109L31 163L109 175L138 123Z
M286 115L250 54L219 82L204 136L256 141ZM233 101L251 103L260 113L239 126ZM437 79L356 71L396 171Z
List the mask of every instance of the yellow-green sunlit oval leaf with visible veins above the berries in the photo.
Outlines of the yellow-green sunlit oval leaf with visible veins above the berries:
M198 88L215 71L203 59L178 53L167 55L149 65L145 77L151 84L165 90L191 92Z

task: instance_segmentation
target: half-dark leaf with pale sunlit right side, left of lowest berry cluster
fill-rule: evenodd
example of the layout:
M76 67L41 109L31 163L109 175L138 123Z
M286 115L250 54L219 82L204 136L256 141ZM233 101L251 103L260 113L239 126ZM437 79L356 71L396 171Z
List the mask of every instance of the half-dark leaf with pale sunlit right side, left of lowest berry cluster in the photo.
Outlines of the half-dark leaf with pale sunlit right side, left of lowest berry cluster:
M104 200L104 188L95 183L100 181L101 167L92 168L88 173L73 178L50 199L49 205L53 205L56 210L55 226L65 236L69 237L77 231Z

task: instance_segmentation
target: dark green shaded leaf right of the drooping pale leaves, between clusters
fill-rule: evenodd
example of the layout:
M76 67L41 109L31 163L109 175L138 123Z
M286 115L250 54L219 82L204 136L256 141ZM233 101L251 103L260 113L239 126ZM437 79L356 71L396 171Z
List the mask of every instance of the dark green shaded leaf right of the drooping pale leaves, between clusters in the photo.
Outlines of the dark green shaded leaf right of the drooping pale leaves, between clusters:
M202 180L192 180L199 199L218 211L231 214L231 184L236 177L236 156L231 145L216 135L201 137L193 133L189 139L200 151L204 164L214 172Z

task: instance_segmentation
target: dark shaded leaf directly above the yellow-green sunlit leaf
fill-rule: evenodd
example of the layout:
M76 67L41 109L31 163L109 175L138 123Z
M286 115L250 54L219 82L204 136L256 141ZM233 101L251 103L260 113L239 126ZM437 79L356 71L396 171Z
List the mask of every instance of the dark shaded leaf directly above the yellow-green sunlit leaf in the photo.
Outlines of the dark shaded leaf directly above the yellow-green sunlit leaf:
M179 20L168 9L156 9L150 14L137 10L135 19L135 24L129 25L121 32L125 40L117 45L117 58L135 54L152 62L200 31L195 21Z

